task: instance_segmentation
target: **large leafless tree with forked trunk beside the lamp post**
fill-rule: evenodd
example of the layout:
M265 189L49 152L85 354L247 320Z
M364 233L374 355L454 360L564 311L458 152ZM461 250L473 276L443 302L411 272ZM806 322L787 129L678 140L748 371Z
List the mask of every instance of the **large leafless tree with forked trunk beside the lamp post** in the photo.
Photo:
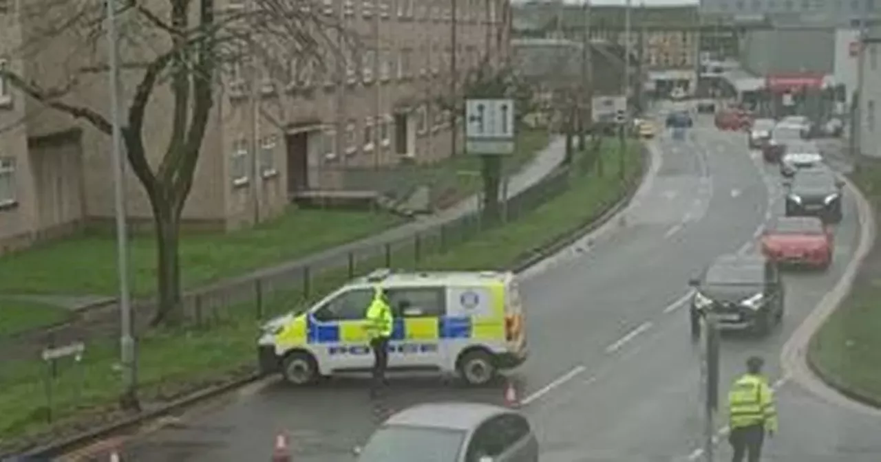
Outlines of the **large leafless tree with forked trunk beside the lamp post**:
M244 60L271 74L289 73L294 59L321 59L321 52L339 50L349 41L312 0L248 0L240 8L220 10L214 0L117 0L119 48L124 81L135 79L127 93L127 117L122 138L132 171L152 208L157 241L159 310L153 325L182 319L178 242L181 212L190 189L200 148L224 70ZM106 10L102 0L33 0L22 2L26 44L19 54L38 61L48 48L62 48L69 58L63 76L52 85L4 70L0 77L31 99L55 111L91 124L110 135L112 126L102 114L103 100L83 102L78 92L90 73L107 72L100 50ZM334 52L336 59L342 53ZM51 58L49 58L51 59ZM95 65L85 65L85 63ZM47 66L47 62L40 62ZM57 72L56 72L57 71ZM133 77L137 76L137 77ZM94 80L93 80L94 82ZM57 86L55 85L57 84ZM150 103L168 98L164 154L151 156L153 140L144 140ZM124 114L124 113L123 113ZM153 121L151 122L154 123ZM145 143L146 142L146 143Z

